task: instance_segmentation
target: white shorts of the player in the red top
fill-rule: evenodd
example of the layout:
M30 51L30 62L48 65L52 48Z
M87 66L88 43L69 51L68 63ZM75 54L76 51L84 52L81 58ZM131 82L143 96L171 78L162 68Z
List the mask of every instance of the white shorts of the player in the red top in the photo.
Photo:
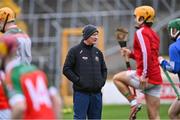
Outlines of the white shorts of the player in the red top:
M161 85L148 83L148 86L144 90L142 90L140 88L140 81L138 76L136 75L135 70L127 71L127 76L130 78L130 86L134 87L135 89L139 89L144 94L148 94L154 97L160 97Z

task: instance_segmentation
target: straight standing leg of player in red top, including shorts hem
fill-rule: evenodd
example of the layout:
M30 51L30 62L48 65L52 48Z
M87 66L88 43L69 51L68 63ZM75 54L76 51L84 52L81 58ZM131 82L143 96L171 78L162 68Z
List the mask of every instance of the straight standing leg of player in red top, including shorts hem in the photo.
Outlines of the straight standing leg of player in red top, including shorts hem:
M145 93L145 100L147 105L147 112L149 119L158 120L160 119L159 116L159 109L160 109L160 85L154 85L153 87L150 86L151 89L146 91Z

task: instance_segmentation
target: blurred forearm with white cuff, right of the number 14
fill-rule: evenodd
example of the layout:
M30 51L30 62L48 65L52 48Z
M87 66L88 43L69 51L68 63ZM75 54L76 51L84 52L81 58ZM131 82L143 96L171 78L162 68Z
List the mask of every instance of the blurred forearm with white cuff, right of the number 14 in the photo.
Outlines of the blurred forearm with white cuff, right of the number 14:
M56 114L56 118L61 118L61 108L62 108L62 101L60 98L60 95L58 94L58 91L55 87L51 86L49 87L49 94L51 97L51 101L53 103L53 110Z

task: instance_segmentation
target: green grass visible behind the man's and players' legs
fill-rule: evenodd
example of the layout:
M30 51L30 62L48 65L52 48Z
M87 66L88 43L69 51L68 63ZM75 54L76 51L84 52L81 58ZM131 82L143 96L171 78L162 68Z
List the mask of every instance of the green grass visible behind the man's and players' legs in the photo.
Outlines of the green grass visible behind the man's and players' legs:
M161 104L160 117L169 119L167 112L170 104ZM130 107L129 105L104 105L102 119L128 119ZM73 119L73 113L63 114L63 119ZM141 111L137 114L137 119L148 119L146 105L143 105Z

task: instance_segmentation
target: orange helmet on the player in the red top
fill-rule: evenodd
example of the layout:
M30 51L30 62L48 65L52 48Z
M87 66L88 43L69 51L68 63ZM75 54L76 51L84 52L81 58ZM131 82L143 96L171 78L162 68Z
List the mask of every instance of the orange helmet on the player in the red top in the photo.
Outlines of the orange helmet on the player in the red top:
M140 18L143 17L145 22L154 22L155 10L151 6L139 6L134 10L136 21L140 22Z

